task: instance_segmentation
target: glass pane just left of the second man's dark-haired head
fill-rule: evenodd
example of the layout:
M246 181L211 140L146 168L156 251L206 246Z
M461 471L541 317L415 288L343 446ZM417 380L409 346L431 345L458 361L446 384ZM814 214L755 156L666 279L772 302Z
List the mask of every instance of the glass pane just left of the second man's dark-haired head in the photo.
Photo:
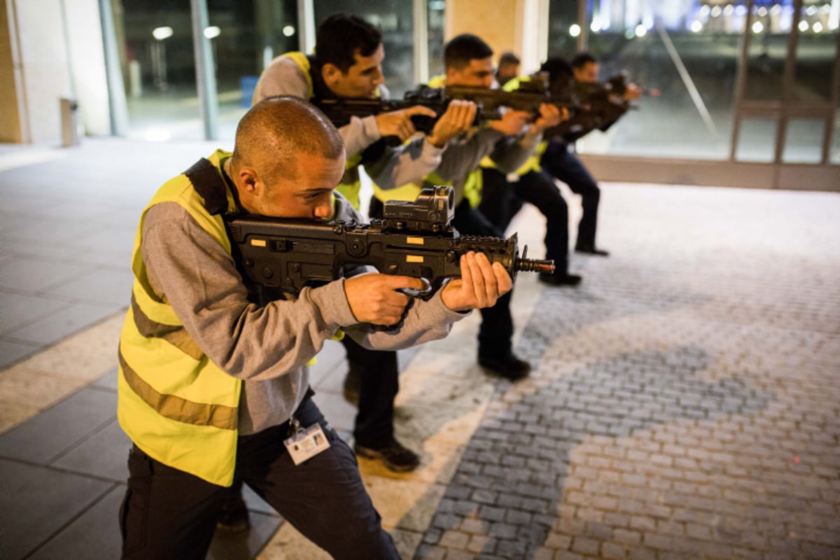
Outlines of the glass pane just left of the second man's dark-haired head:
M218 137L232 140L251 105L260 72L275 56L298 49L295 0L207 0L218 92Z

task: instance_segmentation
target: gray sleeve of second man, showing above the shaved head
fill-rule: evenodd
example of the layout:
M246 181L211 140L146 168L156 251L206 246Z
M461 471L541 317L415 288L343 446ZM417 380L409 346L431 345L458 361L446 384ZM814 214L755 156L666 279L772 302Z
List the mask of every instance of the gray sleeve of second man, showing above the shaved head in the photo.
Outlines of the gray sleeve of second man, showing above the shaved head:
M271 61L254 88L252 104L278 95L291 95L301 99L310 99L307 75L297 62L288 56L278 56ZM339 128L347 157L353 157L381 138L376 119L370 117L350 119L349 124Z

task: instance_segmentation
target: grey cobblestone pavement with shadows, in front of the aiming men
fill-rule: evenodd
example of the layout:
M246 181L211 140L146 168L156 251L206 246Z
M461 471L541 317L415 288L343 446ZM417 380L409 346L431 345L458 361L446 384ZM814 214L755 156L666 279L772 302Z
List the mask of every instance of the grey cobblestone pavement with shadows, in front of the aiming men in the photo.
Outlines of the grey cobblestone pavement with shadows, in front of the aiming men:
M840 198L602 201L415 557L840 558Z

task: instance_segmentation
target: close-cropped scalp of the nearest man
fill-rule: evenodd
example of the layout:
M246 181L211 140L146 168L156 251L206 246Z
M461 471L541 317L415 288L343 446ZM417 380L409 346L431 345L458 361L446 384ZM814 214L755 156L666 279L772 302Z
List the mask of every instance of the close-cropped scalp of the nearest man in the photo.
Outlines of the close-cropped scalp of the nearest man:
M235 170L250 167L269 181L297 170L301 154L337 160L344 155L339 131L311 103L297 97L268 97L251 107L236 128Z

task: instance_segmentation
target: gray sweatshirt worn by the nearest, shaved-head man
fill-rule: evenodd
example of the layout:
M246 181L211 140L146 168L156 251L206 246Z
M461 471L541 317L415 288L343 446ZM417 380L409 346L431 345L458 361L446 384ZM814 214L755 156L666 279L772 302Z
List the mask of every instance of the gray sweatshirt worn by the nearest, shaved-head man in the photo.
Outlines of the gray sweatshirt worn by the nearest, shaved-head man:
M336 219L360 221L344 197L336 200ZM372 332L350 311L343 279L305 288L297 301L258 307L248 301L231 255L176 202L146 213L140 249L152 286L186 332L213 364L244 380L242 435L289 419L309 386L305 364L339 328L366 348L397 350L444 338L468 315L450 310L438 292L413 301L399 329Z

